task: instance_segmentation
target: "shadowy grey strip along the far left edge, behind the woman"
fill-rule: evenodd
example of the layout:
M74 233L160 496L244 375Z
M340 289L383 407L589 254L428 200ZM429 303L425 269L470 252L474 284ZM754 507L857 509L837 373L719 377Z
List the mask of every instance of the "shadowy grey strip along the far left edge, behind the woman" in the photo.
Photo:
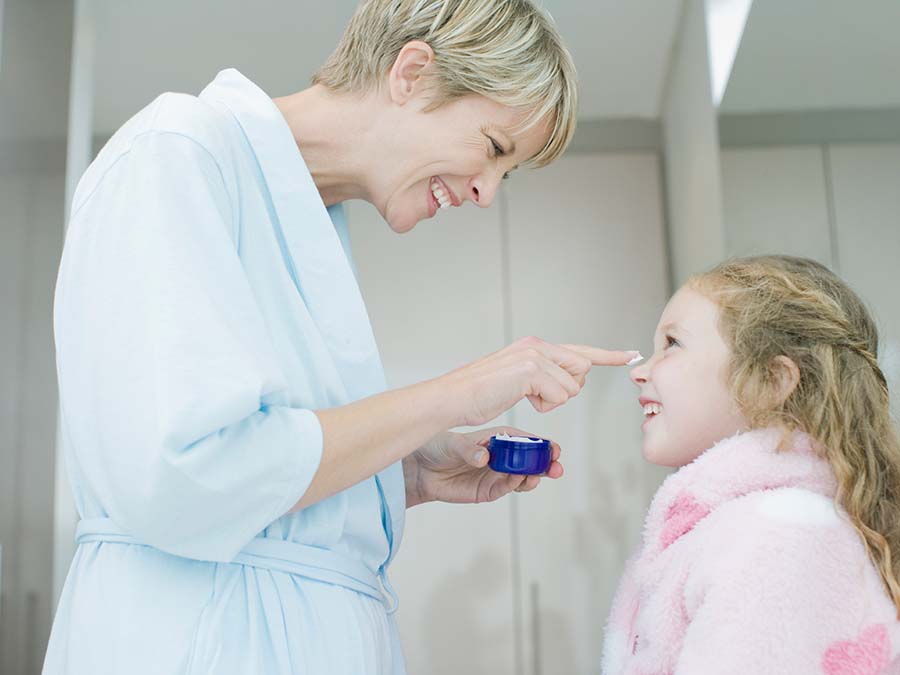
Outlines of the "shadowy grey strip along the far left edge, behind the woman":
M72 2L0 4L0 673L33 675L52 614L52 298L62 249Z

